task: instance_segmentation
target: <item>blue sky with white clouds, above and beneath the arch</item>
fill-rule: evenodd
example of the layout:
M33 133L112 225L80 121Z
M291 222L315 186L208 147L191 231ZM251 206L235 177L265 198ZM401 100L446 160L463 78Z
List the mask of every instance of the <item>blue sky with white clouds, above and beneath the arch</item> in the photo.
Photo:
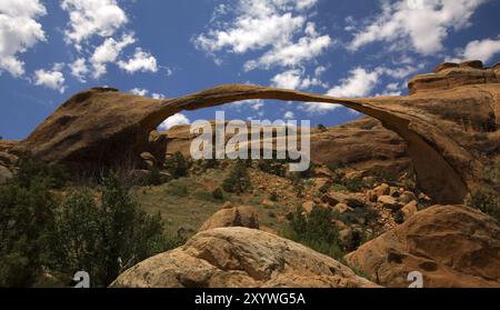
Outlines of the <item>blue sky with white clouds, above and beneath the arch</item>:
M0 136L26 138L96 86L167 98L222 83L406 94L441 61L500 61L499 13L498 0L1 0ZM360 117L314 103L223 110L327 126ZM213 118L186 112L163 127Z

